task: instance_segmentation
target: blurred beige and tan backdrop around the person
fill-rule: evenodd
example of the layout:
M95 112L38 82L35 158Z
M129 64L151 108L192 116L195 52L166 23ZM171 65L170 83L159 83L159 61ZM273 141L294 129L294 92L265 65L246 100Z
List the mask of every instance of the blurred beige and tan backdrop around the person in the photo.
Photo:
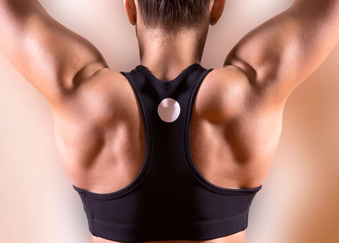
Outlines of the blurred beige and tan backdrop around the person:
M41 0L111 69L140 63L123 0ZM201 65L222 67L248 31L292 0L227 0ZM289 97L278 152L254 198L246 243L339 242L339 45ZM305 67L307 68L307 67ZM58 158L51 109L0 51L0 234L8 243L89 243L78 193Z

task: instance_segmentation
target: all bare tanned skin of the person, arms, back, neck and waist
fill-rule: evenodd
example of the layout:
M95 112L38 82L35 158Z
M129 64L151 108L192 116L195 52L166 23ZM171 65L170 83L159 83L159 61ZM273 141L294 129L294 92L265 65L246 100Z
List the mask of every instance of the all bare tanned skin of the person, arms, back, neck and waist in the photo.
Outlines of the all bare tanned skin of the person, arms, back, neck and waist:
M136 27L140 64L169 81L200 63L209 28L220 19L225 1L212 0L211 19L200 30L166 39L144 27L137 0L124 0ZM295 0L246 34L223 67L206 76L193 107L191 152L208 181L231 189L264 182L288 96L338 40L339 0ZM145 133L138 99L126 78L37 0L0 0L0 47L50 104L60 159L73 185L109 193L130 184L144 160ZM114 243L94 236L92 241ZM209 241L162 243L244 241L245 230Z

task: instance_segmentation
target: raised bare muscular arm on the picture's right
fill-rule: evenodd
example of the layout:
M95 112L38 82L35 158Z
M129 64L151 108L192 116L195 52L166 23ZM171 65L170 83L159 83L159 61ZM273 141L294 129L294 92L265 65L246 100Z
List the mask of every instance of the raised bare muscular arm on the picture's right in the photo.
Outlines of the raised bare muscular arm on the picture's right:
M339 40L339 0L295 0L247 33L224 67L241 68L268 105L282 105Z

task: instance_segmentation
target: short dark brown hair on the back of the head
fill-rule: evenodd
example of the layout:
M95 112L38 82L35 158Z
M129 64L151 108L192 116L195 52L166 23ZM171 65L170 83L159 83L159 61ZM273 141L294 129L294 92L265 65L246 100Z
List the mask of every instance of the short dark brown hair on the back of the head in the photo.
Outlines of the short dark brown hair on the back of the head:
M172 33L201 28L209 20L210 3L211 0L138 0L138 8L146 28Z

